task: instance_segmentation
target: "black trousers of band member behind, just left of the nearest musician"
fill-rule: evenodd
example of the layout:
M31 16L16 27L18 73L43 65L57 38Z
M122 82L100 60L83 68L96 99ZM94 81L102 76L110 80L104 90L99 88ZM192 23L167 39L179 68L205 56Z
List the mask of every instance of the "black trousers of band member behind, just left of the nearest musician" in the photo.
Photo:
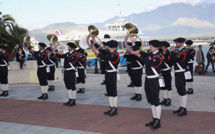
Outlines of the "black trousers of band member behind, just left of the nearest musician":
M131 81L135 87L141 87L142 86L142 75L143 70L142 69L131 69Z

